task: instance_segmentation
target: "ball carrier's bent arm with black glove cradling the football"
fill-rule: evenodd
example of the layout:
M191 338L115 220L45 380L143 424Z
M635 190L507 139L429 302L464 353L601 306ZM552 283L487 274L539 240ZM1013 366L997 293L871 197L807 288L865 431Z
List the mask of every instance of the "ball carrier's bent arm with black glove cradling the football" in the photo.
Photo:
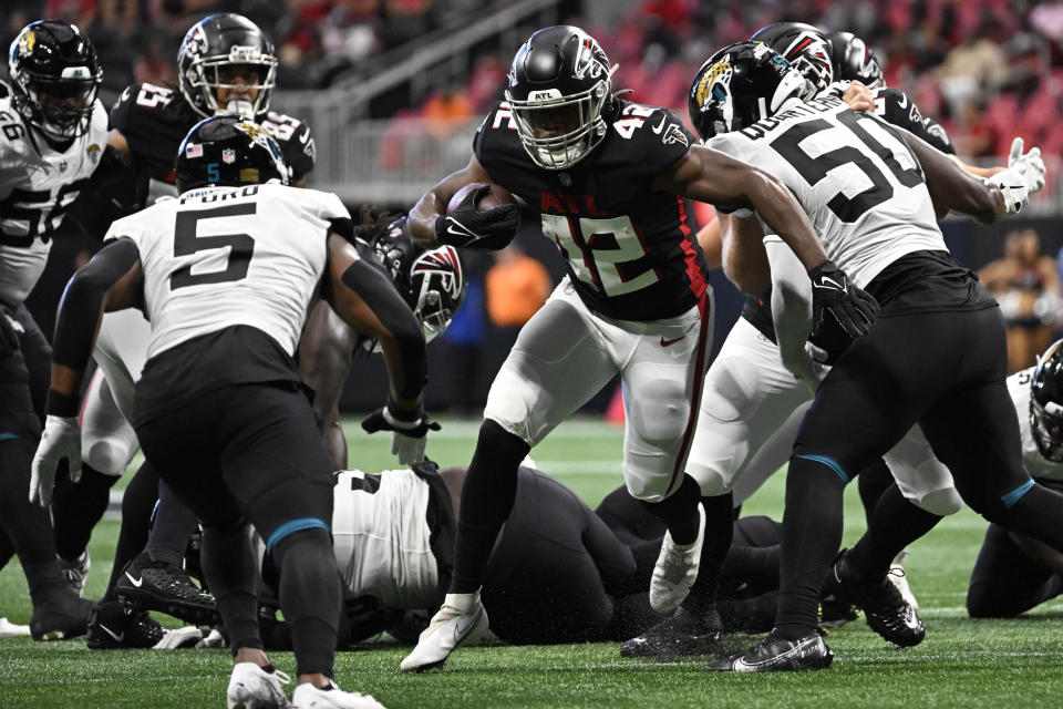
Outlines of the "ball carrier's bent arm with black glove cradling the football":
M410 210L406 228L425 248L448 244L456 248L497 250L513 240L517 233L517 205L504 204L479 212L476 203L488 188L473 191L451 214L446 207L457 191L473 183L491 183L491 175L473 155L468 165L444 177L424 193Z

